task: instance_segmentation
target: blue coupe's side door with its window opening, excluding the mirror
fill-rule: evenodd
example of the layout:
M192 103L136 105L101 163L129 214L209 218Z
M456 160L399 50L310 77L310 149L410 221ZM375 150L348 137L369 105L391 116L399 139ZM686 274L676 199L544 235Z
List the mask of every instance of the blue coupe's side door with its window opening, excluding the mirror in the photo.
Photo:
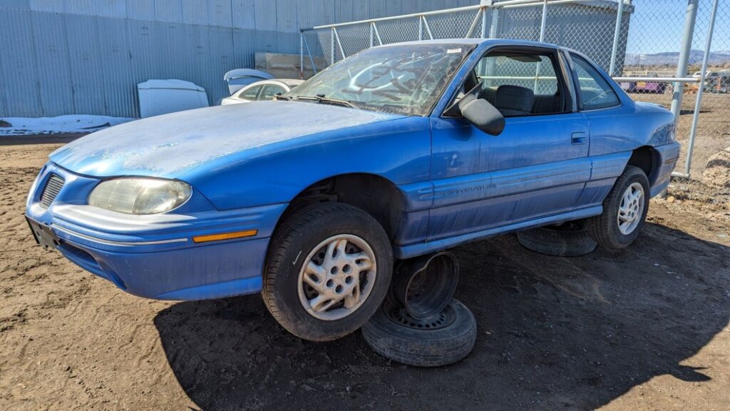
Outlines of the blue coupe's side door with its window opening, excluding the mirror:
M565 70L558 50L489 50L468 78L504 115L502 134L431 117L429 241L574 209L591 174L590 136Z

